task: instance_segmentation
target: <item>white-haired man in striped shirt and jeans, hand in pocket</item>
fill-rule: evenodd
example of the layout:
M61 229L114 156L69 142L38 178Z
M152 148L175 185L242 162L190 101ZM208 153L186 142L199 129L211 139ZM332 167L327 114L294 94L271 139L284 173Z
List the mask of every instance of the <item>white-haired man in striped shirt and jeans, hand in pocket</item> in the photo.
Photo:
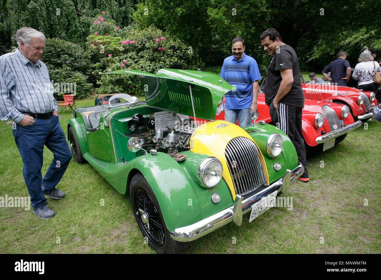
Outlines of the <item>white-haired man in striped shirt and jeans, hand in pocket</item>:
M0 119L12 119L14 141L19 149L33 213L41 219L55 215L46 206L47 195L61 199L56 189L71 159L64 131L59 124L58 104L46 65L40 61L45 35L33 28L16 32L19 48L0 56ZM42 179L44 145L54 158Z

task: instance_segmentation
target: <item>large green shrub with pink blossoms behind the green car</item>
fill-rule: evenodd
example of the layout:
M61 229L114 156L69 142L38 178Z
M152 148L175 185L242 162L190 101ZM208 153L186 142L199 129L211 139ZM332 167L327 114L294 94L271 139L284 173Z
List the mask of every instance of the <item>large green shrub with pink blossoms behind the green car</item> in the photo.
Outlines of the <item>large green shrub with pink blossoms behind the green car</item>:
M187 45L176 38L163 36L163 32L154 26L144 29L123 27L116 31L117 37L90 35L87 38L89 50L99 58L96 72L134 69L155 73L161 68L197 69L203 66L198 56L189 52ZM100 45L104 46L104 53L100 53ZM96 89L99 94L143 94L139 79L133 75L99 75L97 84L100 85Z

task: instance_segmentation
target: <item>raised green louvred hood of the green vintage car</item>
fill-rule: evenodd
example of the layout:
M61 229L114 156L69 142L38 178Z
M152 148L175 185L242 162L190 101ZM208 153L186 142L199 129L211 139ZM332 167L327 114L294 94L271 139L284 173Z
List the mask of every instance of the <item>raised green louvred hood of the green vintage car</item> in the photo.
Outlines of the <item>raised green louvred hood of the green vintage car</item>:
M178 114L195 115L214 120L221 97L234 89L216 74L194 70L160 69L156 74L138 70L117 70L103 74L137 75L146 96L147 105Z

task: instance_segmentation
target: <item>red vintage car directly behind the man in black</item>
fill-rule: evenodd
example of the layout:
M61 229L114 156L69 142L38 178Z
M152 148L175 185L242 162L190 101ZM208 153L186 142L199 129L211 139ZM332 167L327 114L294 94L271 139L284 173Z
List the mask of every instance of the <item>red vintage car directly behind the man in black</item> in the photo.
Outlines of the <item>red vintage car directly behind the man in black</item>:
M258 94L257 105L257 121L277 126L276 123L272 123L269 106L265 103L263 92ZM314 147L319 144L322 144L323 151L330 149L335 144L343 141L349 131L359 128L362 122L360 120L355 122L349 112L350 108L347 105L305 99L302 115L302 131L306 151L308 147ZM217 119L225 119L223 112L216 115Z

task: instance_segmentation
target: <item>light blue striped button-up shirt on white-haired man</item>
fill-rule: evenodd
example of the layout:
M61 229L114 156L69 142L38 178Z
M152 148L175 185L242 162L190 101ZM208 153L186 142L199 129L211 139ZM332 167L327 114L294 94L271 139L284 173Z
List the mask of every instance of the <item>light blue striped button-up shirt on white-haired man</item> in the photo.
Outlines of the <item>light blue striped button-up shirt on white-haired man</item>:
M58 111L54 88L45 63L33 65L17 49L0 56L0 119L19 123L24 115Z

